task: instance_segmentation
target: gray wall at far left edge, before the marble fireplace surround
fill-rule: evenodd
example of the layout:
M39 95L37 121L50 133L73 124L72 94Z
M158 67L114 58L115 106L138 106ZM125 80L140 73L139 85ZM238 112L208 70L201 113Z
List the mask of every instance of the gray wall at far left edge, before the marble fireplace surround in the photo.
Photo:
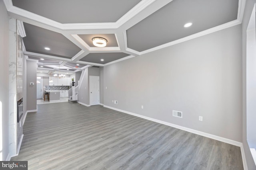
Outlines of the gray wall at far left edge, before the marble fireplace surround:
M8 140L8 102L9 102L9 60L8 60L8 44L9 44L9 21L8 21L7 10L4 6L4 2L0 1L0 119L2 126L2 141L0 141L0 146L2 151L0 152L0 160L6 160L9 153L9 140Z

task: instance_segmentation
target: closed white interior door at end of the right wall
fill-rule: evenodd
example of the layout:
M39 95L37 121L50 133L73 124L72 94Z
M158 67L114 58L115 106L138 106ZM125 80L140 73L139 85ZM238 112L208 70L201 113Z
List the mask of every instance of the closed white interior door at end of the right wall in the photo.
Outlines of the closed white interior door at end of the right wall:
M90 76L90 106L100 104L100 77Z

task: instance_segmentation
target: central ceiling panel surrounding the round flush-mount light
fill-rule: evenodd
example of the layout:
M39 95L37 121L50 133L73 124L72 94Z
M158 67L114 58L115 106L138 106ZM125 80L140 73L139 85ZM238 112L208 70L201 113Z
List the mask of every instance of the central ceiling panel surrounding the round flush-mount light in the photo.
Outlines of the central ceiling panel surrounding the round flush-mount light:
M86 44L88 44L90 47L95 47L92 44L92 38L94 37L102 37L106 39L107 45L106 47L118 47L117 41L116 41L116 36L114 34L83 34L83 35L78 35Z

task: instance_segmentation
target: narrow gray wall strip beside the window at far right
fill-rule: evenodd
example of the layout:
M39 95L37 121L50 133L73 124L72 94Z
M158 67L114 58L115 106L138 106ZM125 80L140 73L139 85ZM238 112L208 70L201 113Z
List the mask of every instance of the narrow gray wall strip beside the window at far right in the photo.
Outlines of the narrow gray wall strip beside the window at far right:
M254 164L254 160L252 158L252 154L250 152L250 148L247 143L247 122L246 122L246 30L250 20L250 16L252 14L252 8L256 0L246 0L246 6L244 10L244 18L242 23L242 90L243 90L243 97L242 97L242 142L244 146L244 152L246 156L247 166L249 170L256 170L256 166ZM255 113L255 112L254 112Z

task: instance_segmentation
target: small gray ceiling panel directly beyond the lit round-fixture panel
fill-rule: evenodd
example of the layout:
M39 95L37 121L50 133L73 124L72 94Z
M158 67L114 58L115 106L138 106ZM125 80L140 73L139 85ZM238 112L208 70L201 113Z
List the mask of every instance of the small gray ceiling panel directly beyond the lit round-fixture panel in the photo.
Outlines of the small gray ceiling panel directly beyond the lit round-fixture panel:
M86 61L91 63L106 64L111 61L122 59L123 57L129 56L126 53L90 53L82 58L80 61ZM104 59L104 61L100 61Z

